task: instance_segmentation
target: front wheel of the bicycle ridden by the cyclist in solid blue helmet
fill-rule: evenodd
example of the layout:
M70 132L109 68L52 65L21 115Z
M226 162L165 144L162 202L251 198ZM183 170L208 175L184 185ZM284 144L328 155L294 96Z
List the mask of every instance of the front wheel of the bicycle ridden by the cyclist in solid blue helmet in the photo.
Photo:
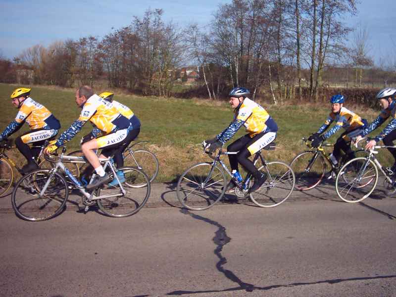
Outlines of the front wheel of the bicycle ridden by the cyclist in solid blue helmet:
M316 159L313 159L315 154L315 151L304 151L290 163L296 175L296 189L299 191L315 188L325 175L325 159L322 155L317 155Z

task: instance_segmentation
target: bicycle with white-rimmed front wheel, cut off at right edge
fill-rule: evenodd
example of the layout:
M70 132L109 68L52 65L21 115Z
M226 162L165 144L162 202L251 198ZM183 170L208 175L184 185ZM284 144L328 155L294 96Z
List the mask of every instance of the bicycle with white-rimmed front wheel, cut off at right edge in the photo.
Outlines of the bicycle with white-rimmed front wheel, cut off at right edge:
M360 139L355 146L358 146ZM369 197L377 186L379 172L384 175L383 185L387 194L396 192L395 175L391 175L375 156L383 148L396 148L396 146L375 146L368 151L365 157L349 160L341 168L336 178L336 192L338 197L346 202L355 203Z

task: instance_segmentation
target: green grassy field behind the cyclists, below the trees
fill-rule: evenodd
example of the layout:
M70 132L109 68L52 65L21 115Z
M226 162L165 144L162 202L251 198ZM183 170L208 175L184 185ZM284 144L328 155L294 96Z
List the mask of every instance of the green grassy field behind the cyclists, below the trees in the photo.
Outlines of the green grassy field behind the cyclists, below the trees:
M2 94L3 116L0 118L0 130L11 122L17 109L11 104L10 94L17 85L0 84ZM32 87L31 97L44 104L61 122L60 133L65 131L79 116L80 109L74 99L75 90L57 89L49 87ZM200 143L204 139L212 138L232 121L233 112L228 102L208 101L198 99L165 99L137 96L114 96L114 99L129 106L142 122L139 140L147 140L147 148L157 155L160 168L158 182L175 181L177 177L191 164L208 160L202 153ZM279 132L276 143L277 149L265 151L269 159L280 159L290 162L292 158L306 146L301 138L310 135L321 126L330 112L329 105L267 105L263 106L278 124ZM370 122L378 111L359 106L345 106ZM385 125L384 125L385 127ZM67 151L80 149L80 139L92 129L87 123L83 130L67 143ZM28 130L25 124L21 130L11 138ZM244 129L241 129L244 130ZM377 130L377 133L380 131ZM238 136L245 131L239 131ZM339 131L328 142L334 142L342 132ZM231 140L231 142L233 141ZM16 158L16 153L12 154ZM19 156L21 161L23 157ZM384 159L392 163L391 155L386 151Z

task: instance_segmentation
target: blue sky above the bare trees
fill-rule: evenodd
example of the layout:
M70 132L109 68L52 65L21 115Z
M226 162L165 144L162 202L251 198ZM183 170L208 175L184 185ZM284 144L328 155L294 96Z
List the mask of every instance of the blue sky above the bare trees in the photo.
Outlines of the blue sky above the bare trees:
M130 24L148 8L164 9L163 19L184 27L190 22L207 24L218 4L231 0L0 0L0 55L12 59L36 44L77 40L89 35L103 37L111 28ZM370 36L370 54L396 55L396 0L362 0L358 15L346 17L352 27L361 23ZM386 42L386 46L384 46ZM395 49L394 49L395 48Z

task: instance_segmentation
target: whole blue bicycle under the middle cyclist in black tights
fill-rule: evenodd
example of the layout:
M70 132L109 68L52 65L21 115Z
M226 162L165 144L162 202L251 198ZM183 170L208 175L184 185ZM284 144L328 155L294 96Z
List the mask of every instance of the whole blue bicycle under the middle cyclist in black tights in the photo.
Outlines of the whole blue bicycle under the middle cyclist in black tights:
M250 198L259 207L274 207L292 194L295 186L295 175L292 168L281 161L267 161L261 150L253 155L253 163L257 169L266 176L264 184L255 192L249 193L252 175L247 173L242 182L232 175L225 163L220 159L222 155L236 154L238 152L223 151L210 154L203 144L204 152L213 159L211 162L202 162L188 168L180 176L177 183L177 198L185 208L191 210L204 210L212 207L223 198L226 192L226 172L236 184L234 193L239 198ZM269 144L264 149L275 149L275 143ZM219 166L220 165L220 166Z

